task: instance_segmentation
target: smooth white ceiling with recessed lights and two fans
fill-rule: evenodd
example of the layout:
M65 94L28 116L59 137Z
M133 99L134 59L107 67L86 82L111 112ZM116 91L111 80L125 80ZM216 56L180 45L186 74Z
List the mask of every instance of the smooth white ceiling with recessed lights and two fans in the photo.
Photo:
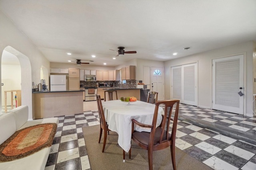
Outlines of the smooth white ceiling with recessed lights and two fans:
M256 0L0 0L0 10L58 63L167 61L256 40ZM120 46L137 53L113 60Z

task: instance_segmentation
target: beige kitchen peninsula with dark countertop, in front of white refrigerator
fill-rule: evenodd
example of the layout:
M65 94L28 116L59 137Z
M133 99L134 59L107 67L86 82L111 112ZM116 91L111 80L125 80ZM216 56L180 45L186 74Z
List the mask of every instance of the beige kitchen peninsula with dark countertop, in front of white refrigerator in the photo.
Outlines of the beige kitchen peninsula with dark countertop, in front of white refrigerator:
M84 90L32 92L33 119L83 113Z

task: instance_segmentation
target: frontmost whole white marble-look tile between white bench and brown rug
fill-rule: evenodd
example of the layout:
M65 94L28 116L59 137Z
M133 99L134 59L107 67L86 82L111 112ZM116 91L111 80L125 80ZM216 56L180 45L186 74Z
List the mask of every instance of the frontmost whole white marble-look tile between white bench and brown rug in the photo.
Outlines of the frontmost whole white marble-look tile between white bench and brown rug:
M62 152L58 152L57 164L74 158L79 158L79 149L69 149Z

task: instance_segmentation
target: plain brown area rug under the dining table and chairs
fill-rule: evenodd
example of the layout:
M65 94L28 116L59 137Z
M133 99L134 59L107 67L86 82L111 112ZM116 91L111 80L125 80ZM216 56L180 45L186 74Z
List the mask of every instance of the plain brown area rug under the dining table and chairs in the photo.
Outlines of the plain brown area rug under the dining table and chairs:
M88 153L91 170L148 170L148 152L141 149L132 141L132 154L126 153L126 161L123 162L123 151L118 145L118 134L110 131L107 135L105 151L102 153L103 137L98 143L100 125L82 127L86 150ZM177 170L213 170L206 164L193 158L186 152L176 147ZM170 147L153 152L154 170L172 170Z

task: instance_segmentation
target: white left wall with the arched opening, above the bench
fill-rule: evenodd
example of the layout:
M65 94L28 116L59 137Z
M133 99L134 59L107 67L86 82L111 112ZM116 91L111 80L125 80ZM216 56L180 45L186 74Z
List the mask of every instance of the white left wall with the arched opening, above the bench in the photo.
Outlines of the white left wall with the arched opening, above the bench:
M40 70L42 65L48 68L50 72L50 62L1 10L0 23L0 57L2 57L2 52L6 47L10 46L15 49L12 50L12 53L16 56L18 55L22 70L22 105L28 106L29 119L32 119L32 82L40 82ZM0 92L2 93L2 90L0 90ZM1 99L0 103L2 104L2 102L4 101Z

